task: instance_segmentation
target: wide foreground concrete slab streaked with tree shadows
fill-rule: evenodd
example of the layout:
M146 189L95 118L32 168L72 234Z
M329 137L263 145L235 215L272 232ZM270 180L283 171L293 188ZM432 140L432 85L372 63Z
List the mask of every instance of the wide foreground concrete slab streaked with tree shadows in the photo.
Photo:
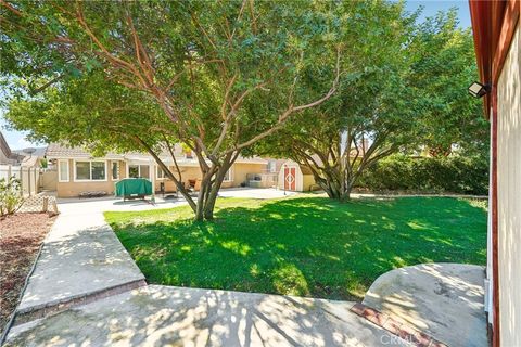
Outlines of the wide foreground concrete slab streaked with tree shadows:
M15 326L8 346L408 346L353 305L149 285Z

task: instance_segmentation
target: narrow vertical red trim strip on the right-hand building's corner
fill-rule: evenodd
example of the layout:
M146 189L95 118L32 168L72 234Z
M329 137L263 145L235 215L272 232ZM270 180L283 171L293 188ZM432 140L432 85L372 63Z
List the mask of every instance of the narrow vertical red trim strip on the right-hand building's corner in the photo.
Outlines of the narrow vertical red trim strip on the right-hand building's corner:
M493 334L492 346L499 347L499 257L497 224L497 88L492 91L492 278L493 278Z

